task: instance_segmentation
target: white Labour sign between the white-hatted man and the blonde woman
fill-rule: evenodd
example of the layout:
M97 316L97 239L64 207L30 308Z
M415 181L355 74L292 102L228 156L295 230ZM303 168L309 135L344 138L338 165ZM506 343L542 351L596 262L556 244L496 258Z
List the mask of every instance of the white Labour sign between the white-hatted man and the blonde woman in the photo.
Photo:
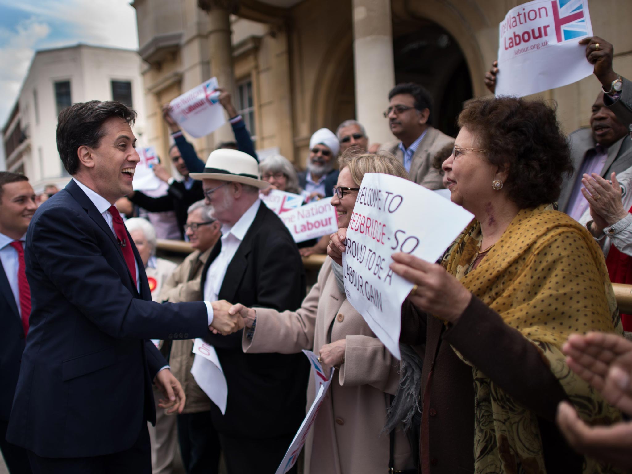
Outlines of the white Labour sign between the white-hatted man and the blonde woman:
M338 230L336 208L331 205L331 198L310 202L296 209L279 214L279 218L295 242L315 239Z

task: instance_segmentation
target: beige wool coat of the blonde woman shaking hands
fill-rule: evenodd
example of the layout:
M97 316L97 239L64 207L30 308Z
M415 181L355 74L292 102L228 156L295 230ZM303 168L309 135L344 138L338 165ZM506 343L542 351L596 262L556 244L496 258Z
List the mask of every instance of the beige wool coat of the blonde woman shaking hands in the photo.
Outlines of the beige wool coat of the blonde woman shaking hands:
M330 327L331 338L327 336ZM313 349L319 353L324 344L344 338L344 363L336 370L305 443L305 473L386 474L390 440L380 432L391 394L398 387L398 360L339 291L331 258L296 312L257 308L255 333L252 341L243 336L243 349L286 354ZM312 375L308 406L315 396ZM394 458L396 470L412 467L410 443L401 430L396 433Z

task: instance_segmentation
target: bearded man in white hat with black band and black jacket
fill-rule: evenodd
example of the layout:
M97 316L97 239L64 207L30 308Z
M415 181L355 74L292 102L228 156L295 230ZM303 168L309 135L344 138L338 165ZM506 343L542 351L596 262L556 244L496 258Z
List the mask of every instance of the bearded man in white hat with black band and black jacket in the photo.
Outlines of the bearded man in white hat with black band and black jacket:
M202 270L204 300L228 300L282 310L298 308L305 271L298 248L281 219L258 198L268 183L258 179L255 159L236 150L216 150L202 173L212 217L222 237ZM209 335L217 351L228 402L211 416L229 474L276 471L305 416L309 367L302 354L244 354L241 333Z

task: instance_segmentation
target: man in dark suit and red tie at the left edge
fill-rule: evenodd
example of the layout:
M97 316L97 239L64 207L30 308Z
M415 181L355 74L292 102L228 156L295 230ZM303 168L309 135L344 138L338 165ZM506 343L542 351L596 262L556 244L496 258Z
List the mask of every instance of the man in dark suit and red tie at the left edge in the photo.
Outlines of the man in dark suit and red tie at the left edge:
M4 438L31 312L24 243L35 210L35 191L28 178L0 171L0 451L13 474L31 472L27 451Z

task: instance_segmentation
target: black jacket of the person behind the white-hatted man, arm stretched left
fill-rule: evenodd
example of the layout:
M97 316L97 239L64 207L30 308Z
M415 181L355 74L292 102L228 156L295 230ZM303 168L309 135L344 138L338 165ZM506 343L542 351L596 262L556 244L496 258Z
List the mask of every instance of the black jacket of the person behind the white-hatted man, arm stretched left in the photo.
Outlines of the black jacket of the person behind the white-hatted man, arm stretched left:
M188 217L188 209L191 204L204 199L204 191L202 190L202 181L193 181L193 186L188 190L181 181L174 181L167 194L161 197L152 198L136 191L130 201L138 204L149 212L164 212L166 210L174 210L176 212L176 221L178 221L178 230L180 238L185 240L185 224Z

